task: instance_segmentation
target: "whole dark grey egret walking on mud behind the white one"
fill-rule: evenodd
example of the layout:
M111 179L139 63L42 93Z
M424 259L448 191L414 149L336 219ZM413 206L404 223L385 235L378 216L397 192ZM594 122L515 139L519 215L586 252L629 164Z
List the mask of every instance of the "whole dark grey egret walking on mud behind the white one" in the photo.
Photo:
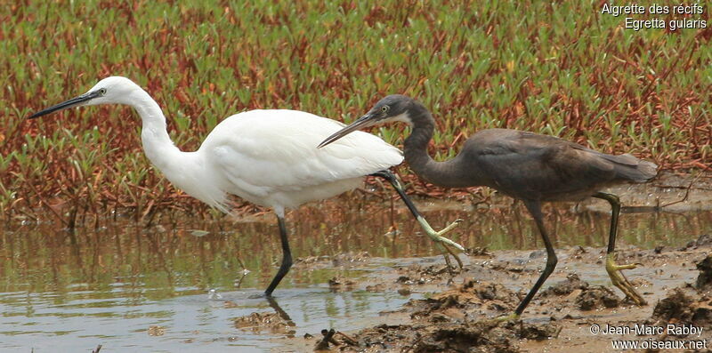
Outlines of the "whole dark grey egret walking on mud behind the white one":
M406 161L417 175L447 188L488 186L522 200L531 213L546 246L546 267L512 317L522 315L556 267L554 247L542 221L541 203L579 201L586 197L602 198L611 204L611 231L605 265L611 282L636 304L645 305L643 296L620 272L621 269L635 269L635 264L619 265L615 261L619 198L598 190L625 181L649 181L656 175L657 165L628 154L611 156L553 136L508 129L477 132L465 141L457 156L447 162L435 162L427 154L427 144L435 127L433 116L417 100L399 94L378 101L365 116L329 136L319 147L361 128L393 121L405 122L413 128L403 150Z

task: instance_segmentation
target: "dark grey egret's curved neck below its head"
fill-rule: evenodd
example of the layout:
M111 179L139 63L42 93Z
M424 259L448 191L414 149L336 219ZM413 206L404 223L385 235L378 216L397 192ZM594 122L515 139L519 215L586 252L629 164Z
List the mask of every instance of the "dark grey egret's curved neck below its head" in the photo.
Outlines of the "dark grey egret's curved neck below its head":
M408 118L413 132L405 140L403 151L406 162L418 176L447 188L482 185L476 166L466 164L462 156L458 155L445 162L436 162L428 155L428 142L433 138L435 119L425 107L413 101L408 110Z

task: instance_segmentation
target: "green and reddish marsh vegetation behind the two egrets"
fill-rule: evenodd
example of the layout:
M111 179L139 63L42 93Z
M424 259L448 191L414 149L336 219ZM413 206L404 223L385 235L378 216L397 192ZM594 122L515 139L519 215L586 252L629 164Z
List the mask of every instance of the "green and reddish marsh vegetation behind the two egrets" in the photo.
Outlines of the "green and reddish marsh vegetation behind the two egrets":
M110 75L146 88L186 150L242 110L351 121L401 92L438 119L436 158L508 127L667 169L712 163L712 28L625 29L600 2L20 3L0 10L2 217L204 210L149 167L128 108L24 120ZM379 132L398 144L399 129Z

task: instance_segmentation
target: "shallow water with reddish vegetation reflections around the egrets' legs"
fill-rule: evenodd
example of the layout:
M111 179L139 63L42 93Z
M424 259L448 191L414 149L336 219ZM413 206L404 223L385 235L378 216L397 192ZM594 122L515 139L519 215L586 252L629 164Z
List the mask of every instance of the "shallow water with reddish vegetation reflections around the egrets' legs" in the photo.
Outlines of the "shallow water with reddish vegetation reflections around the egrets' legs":
M466 247L542 246L521 205L479 210L455 202L419 206L436 229L463 218L449 236ZM574 208L546 208L554 245L603 247L609 214L571 212ZM101 352L275 348L271 339L280 334L233 324L235 317L274 310L264 299L250 298L262 292L279 266L273 215L239 222L164 216L150 228L120 217L99 224L100 229L76 232L51 221L6 226L0 237L0 350L91 351L97 344ZM289 213L287 224L295 258L361 252L384 258L358 269L349 266L348 257L336 267L295 265L275 295L294 322L296 336L329 327L358 329L368 325L360 317L398 309L424 295L333 293L328 288L328 279L335 276L368 277L399 258L437 255L430 240L418 235L407 210L387 203L356 209L312 205ZM393 224L398 231L391 231ZM621 249L679 247L712 231L712 212L624 213L619 229ZM210 300L210 289L223 300ZM237 307L228 308L224 301ZM151 325L165 333L150 335Z

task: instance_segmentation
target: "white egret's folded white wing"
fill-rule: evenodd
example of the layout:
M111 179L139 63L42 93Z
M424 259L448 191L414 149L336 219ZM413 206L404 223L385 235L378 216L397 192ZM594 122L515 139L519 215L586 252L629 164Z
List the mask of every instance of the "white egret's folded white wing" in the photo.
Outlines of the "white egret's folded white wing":
M358 178L400 164L401 151L366 132L317 148L344 127L295 110L251 110L215 126L200 150L225 178L260 197Z

